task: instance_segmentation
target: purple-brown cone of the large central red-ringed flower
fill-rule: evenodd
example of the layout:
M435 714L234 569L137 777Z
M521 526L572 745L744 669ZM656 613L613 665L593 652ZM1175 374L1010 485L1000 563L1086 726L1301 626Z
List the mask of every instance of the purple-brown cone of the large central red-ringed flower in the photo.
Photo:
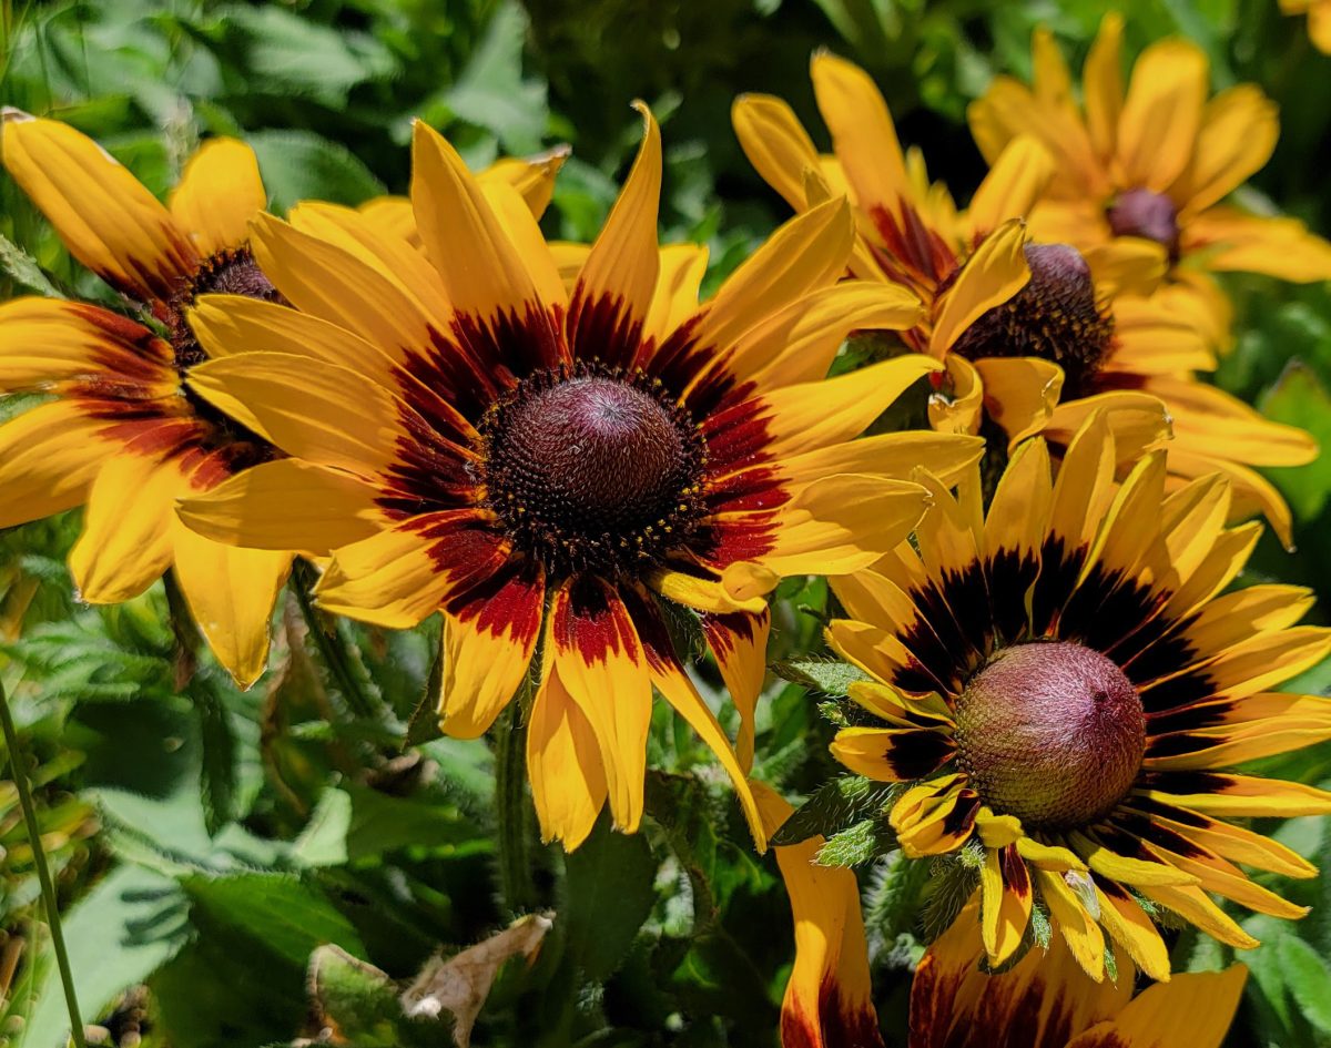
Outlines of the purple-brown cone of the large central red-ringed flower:
M480 424L490 507L556 575L640 569L701 517L703 438L642 372L540 371Z

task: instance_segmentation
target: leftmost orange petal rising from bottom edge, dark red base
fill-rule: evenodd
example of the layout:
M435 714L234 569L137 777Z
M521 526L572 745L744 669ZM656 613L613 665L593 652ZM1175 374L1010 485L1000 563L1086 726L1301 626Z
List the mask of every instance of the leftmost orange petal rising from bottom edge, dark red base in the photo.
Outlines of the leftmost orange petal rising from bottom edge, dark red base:
M768 834L793 809L753 782ZM795 920L795 966L781 1001L781 1048L882 1048L869 980L860 886L844 867L817 864L821 837L776 847Z

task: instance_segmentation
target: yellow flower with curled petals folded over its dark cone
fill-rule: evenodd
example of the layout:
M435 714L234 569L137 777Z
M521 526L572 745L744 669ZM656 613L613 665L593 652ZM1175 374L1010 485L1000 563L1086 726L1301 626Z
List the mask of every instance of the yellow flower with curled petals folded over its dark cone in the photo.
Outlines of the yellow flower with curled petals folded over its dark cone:
M1047 141L1055 133L1032 125L1032 134L994 140L992 170L958 213L948 190L929 182L918 152L902 154L862 69L817 55L812 76L835 157L820 157L789 106L768 96L736 102L736 133L796 210L824 184L849 190L858 234L851 271L916 291L926 313L904 339L946 360L930 403L937 428L981 432L988 415L997 432L986 434L1009 448L1036 432L1065 446L1091 411L1105 410L1126 465L1158 432L1163 403L1173 484L1222 471L1235 513L1264 513L1290 543L1290 509L1252 467L1311 461L1316 444L1194 376L1217 362L1197 303L1178 289L1154 290L1163 250L1078 237L1074 223L1046 230L1033 218L1034 238L1022 229L1018 219L1038 213L1045 188L1066 178L1067 160Z

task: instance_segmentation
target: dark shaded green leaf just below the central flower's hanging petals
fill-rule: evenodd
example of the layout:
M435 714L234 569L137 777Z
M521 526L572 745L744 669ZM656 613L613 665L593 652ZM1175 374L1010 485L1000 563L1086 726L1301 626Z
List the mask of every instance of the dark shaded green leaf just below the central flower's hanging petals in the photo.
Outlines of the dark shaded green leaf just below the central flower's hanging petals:
M602 814L591 837L564 858L567 950L588 982L619 967L656 902L656 860L642 834L619 834Z

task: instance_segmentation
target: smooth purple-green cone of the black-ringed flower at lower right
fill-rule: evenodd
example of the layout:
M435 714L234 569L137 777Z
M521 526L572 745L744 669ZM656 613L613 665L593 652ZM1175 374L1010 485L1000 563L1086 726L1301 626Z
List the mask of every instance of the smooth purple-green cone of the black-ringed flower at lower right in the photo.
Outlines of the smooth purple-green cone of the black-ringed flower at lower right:
M1029 829L1085 826L1142 765L1146 717L1123 672L1063 641L1006 648L957 700L957 753L981 799Z

